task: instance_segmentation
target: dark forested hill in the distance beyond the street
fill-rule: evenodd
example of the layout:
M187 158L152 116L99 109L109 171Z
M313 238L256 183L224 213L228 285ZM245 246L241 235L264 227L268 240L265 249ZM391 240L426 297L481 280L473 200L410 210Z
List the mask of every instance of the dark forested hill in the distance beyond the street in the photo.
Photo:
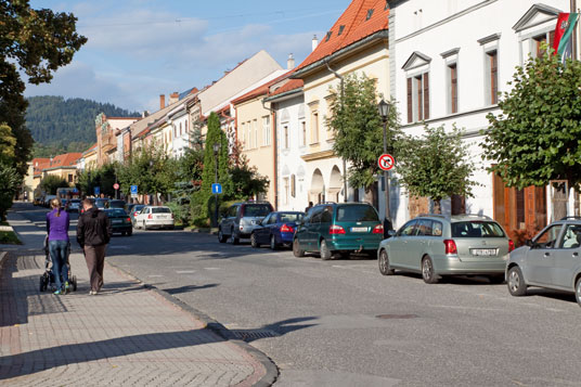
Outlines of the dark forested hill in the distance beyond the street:
M35 157L55 156L65 152L86 151L95 141L94 119L99 113L109 117L137 117L109 103L62 96L28 99L26 126L36 141Z

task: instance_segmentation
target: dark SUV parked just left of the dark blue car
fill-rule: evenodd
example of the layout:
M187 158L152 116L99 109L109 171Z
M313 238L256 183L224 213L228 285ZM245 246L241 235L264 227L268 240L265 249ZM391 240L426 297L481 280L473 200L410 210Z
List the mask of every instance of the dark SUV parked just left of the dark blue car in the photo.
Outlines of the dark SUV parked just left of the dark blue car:
M272 211L272 205L268 202L233 204L218 225L218 241L224 243L230 238L235 245L241 238L250 237L253 230Z

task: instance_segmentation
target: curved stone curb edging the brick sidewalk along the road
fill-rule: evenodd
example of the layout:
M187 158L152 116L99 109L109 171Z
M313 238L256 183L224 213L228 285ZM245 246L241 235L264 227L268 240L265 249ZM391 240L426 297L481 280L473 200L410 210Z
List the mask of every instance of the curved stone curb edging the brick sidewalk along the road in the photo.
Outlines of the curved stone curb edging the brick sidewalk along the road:
M250 356L253 356L256 360L258 360L260 362L260 364L262 364L262 366L267 371L264 376L262 376L262 378L260 380L255 383L254 386L268 387L268 386L272 386L274 384L274 382L276 382L276 378L279 377L279 367L276 366L276 364L274 364L274 362L266 353L259 351L255 347L250 346L248 343L245 343L245 341L236 338L232 334L232 332L230 332L224 325L222 325L218 321L211 319L206 313L204 313L204 312L195 309L194 307L192 307L192 306L179 300L178 298L173 297L172 295L170 295L166 291L162 291L160 288L158 288L158 287L156 287L154 285L150 285L150 284L141 281L140 279L134 276L133 274L131 274L127 270L125 270L122 268L119 268L117 265L112 263L112 262L107 262L106 260L105 260L105 262L106 262L106 265L115 268L116 270L120 271L121 273L124 273L125 275L129 276L130 279L142 283L144 288L157 293L159 296L164 297L169 302L173 304L175 306L177 306L178 308L184 310L185 312L192 314L196 320L202 321L202 323L204 323L206 328L212 331L218 336L229 340L230 343L241 347L243 350L245 350L246 352L250 353Z

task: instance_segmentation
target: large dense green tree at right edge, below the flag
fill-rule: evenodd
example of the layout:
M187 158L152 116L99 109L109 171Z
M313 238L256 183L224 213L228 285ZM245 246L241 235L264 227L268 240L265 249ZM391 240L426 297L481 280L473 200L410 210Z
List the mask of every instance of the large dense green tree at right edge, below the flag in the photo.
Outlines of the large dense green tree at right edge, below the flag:
M551 51L551 50L548 50ZM581 62L529 59L513 76L499 115L489 114L483 157L508 186L581 182Z

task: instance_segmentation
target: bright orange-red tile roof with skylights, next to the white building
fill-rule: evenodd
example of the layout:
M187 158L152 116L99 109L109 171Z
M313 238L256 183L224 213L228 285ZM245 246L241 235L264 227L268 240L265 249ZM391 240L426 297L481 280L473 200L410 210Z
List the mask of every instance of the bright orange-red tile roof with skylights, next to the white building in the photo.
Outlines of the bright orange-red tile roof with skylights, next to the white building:
M369 16L370 10L373 10L371 16ZM388 15L389 9L386 9L386 0L353 0L317 49L297 67L297 70L377 31L387 30Z

